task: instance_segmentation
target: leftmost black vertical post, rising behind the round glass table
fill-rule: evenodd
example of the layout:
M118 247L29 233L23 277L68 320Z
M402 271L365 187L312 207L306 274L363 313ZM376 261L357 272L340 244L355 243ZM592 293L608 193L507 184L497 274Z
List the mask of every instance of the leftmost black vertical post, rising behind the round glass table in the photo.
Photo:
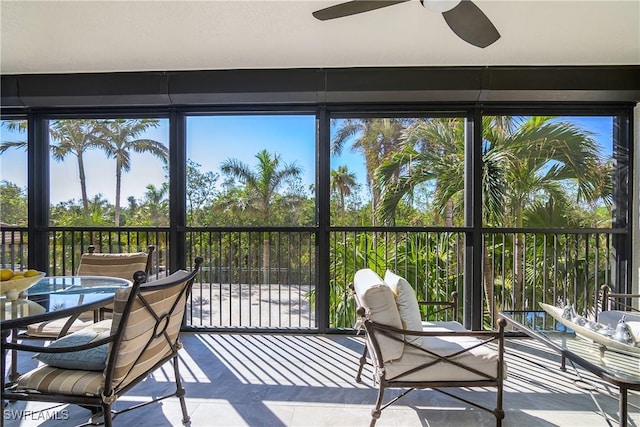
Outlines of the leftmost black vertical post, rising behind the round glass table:
M29 268L49 271L49 125L33 113L27 117Z

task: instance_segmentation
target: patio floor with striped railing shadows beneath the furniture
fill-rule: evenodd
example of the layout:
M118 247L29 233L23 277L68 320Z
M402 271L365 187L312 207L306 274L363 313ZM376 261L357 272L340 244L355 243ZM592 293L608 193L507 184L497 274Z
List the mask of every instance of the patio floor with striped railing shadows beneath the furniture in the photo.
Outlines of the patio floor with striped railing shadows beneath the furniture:
M363 340L351 335L183 334L181 372L192 426L365 426L377 390L371 371L354 375ZM617 388L574 370L529 339L509 339L504 426L616 426ZM639 361L640 365L640 361ZM21 371L35 366L25 356ZM167 368L169 368L167 366ZM640 369L640 366L639 366ZM140 402L172 386L158 371L119 402ZM452 390L493 407L490 389ZM385 396L392 396L395 390ZM118 405L116 405L118 407ZM36 412L42 410L42 412ZM179 426L178 400L125 413L116 425ZM23 402L5 408L5 426L72 426L84 422L79 407ZM382 412L377 426L493 426L489 413L432 390L410 393ZM629 395L629 426L640 425L640 394Z

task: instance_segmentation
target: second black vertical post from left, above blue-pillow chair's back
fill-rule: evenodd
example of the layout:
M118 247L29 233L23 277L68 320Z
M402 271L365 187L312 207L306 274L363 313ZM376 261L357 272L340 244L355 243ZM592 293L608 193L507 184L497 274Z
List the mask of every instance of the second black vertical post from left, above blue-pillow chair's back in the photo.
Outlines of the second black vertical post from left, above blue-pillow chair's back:
M184 114L172 110L169 115L169 271L187 268L186 128Z

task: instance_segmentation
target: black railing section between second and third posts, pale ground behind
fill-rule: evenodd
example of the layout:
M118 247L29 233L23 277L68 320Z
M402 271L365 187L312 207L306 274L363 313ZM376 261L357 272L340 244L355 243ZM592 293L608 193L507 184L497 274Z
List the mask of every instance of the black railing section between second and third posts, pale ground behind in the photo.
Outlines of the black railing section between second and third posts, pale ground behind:
M191 228L202 255L187 322L193 327L315 329L313 228Z

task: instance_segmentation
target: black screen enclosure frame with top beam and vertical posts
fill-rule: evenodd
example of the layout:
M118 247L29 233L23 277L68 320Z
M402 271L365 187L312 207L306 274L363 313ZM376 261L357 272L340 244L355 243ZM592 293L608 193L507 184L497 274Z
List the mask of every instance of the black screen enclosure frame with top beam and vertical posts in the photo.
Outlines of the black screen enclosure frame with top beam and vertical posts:
M570 68L570 67L568 67ZM596 67L597 68L597 67ZM342 71L342 70L340 70ZM475 70L461 71L472 72ZM495 72L502 72L496 68ZM530 73L535 74L535 70ZM249 88L244 88L246 84L246 76L242 72L237 75L229 74L230 89L221 90L218 86L211 89L205 80L196 79L196 83L181 83L186 86L181 96L176 96L175 100L164 94L159 94L158 99L144 98L140 95L133 96L138 101L151 99L148 106L138 106L140 103L131 102L130 97L125 93L114 95L112 98L104 98L108 104L101 105L95 99L99 98L96 91L99 89L85 89L85 93L73 94L69 96L64 87L48 88L45 83L54 81L73 81L74 76L2 76L3 89L10 85L13 80L25 82L36 82L33 86L35 92L41 94L30 94L24 96L23 103L26 107L20 106L17 99L20 93L16 89L5 91L3 93L2 119L25 119L27 120L28 132L28 252L29 267L46 271L49 266L49 151L48 151L48 131L47 120L61 118L162 118L169 122L169 218L168 239L171 242L168 254L168 268L173 271L178 268L185 268L190 264L189 248L187 247L187 233L189 227L186 221L186 120L189 116L202 115L286 115L286 114L305 114L313 115L316 118L316 224L311 227L302 227L303 229L315 234L316 245L316 283L318 284L318 294L316 295L315 304L315 322L318 332L334 331L329 325L328 304L329 304L329 271L330 271L330 233L340 231L343 227L334 226L330 222L330 121L337 117L402 117L402 116L421 116L428 117L461 117L466 121L466 149L465 149L465 190L464 190L464 210L465 225L458 227L464 233L465 240L465 261L464 261L464 323L465 326L472 329L482 329L483 327L483 307L482 307L482 240L483 233L487 229L481 221L482 218L482 194L481 187L481 170L482 170L482 118L488 115L561 115L561 116L613 116L615 117L615 130L613 133L614 141L614 158L622 159L625 163L617 163L614 169L614 192L613 192L613 218L612 230L613 249L615 251L615 265L613 266L612 288L616 292L631 292L631 244L632 231L634 221L631 216L631 207L638 203L635 195L631 191L631 177L634 170L634 143L633 143L633 108L635 100L640 99L638 89L635 88L633 78L638 75L638 70L626 67L614 69L616 72L623 73L624 76L630 74L622 85L625 90L628 89L628 95L623 98L619 96L616 88L605 90L605 101L602 99L594 100L593 96L585 96L586 99L580 99L573 102L562 101L563 93L573 90L569 78L571 70L560 70L559 74L554 75L553 70L544 69L541 73L545 77L545 83L549 86L537 88L539 93L557 92L557 100L551 99L546 102L539 102L535 95L531 95L527 101L527 93L534 93L529 90L528 83L522 83L521 87L516 87L519 95L496 96L494 101L470 102L460 100L460 89L464 89L464 79L459 76L451 77L454 82L449 82L446 90L440 91L438 95L424 96L424 100L420 96L416 96L416 91L407 86L412 84L433 85L436 83L414 83L415 77L413 70L397 69L396 74L402 77L404 74L411 75L410 82L402 82L398 80L386 81L383 83L371 83L370 78L375 77L376 70L362 70L358 74L358 70L344 71L344 81L342 87L331 91L325 89L325 99L318 96L317 88L307 90L309 85L305 81L308 78L307 71L287 70L279 75L273 81L263 83L264 88L256 88L256 83ZM598 70L605 73L607 70ZM215 73L215 72L213 72ZM328 71L327 73L330 73ZM404 74L403 74L404 73ZM566 74L565 74L566 73ZM142 73L144 74L144 73ZM338 75L336 71L336 75ZM186 76L187 74L185 74ZM277 74L271 74L277 75ZM291 80L291 75L297 76ZM512 76L518 75L513 72ZM557 78L558 75L566 76ZM526 70L521 76L527 76ZM555 76L555 77L554 77ZM586 76L586 73L585 73ZM141 78L142 75L136 76ZM197 74L196 74L197 77ZM118 73L105 76L76 76L81 81L95 82L99 79L108 81L109 79L120 78ZM155 79L157 76L150 76ZM65 80L67 79L67 80ZM98 80L96 80L98 79ZM282 79L282 81L280 80ZM442 82L445 77L439 77ZM584 77L588 80L587 77ZM313 79L312 79L313 80ZM102 80L101 80L102 81ZM313 80L315 82L315 80ZM364 81L365 83L362 83ZM287 84L293 82L294 89L287 90ZM594 78L590 81L594 86L593 92L598 92L600 80ZM626 82L626 83L625 83ZM380 85L381 88L375 90L362 89L362 86ZM200 86L198 86L200 85ZM453 87L451 87L453 85ZM457 85L457 86L456 86ZM564 85L564 86L563 86ZM22 90L24 86L20 85ZM27 85L28 87L28 85ZM353 93L349 90L353 88ZM11 88L10 88L11 89ZM263 90L264 89L264 90ZM421 88L425 89L425 88ZM428 90L435 91L438 87L428 87ZM466 88L463 92L476 93ZM104 89L109 91L111 89ZM134 93L140 89L133 89ZM486 89L485 89L486 90ZM207 96L200 96L202 91ZM54 93L50 93L54 92ZM397 93L396 93L397 92ZM427 91L428 92L428 91ZM427 93L425 92L425 93ZM480 90L482 92L482 90ZM486 90L492 93L491 90ZM524 93L524 95L521 94ZM25 92L26 93L26 92ZM398 93L400 95L398 95ZM435 93L435 92L433 92ZM495 93L501 93L497 90ZM589 93L588 90L585 93ZM606 100L609 93L609 99ZM626 93L626 92L625 92ZM219 95L220 99L207 101L211 99L211 95ZM226 96L223 96L225 95ZM40 95L40 97L36 96ZM405 99L399 101L399 96ZM475 95L474 95L475 96ZM273 101L269 101L269 98ZM327 102L327 99L331 101ZM437 98L437 99L434 99ZM447 100L447 98L450 98ZM473 98L464 95L464 98ZM489 98L491 98L489 96ZM506 98L506 99L505 99ZM553 98L553 97L549 97ZM78 102L78 99L82 101ZM204 100L203 100L204 99ZM364 101L363 99L366 99ZM4 102L5 100L9 102ZM31 100L31 101L30 101ZM59 100L60 102L56 102ZM89 105L85 104L88 103ZM29 104L34 105L29 105ZM16 105L18 104L18 105ZM75 104L70 107L68 104ZM145 102L142 102L144 105ZM617 154L621 153L620 156ZM286 228L286 227L283 227ZM314 329L314 328L312 328Z

